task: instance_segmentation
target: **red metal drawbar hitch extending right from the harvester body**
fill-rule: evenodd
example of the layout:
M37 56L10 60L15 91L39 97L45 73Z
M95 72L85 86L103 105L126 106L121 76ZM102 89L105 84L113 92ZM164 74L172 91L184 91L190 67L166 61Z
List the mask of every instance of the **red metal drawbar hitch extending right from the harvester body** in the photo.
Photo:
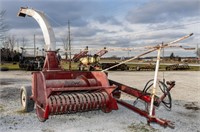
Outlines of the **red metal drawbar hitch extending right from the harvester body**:
M157 118L156 115L155 115L155 107L158 107L161 104L161 102L164 100L164 98L166 97L165 93L160 97L155 96L153 104L156 104L156 106L153 105L152 115L150 115L149 111L145 111L145 110L142 110L140 108L137 108L136 106L129 104L129 103L123 101L122 99L120 99L120 94L121 94L121 92L124 92L128 95L139 98L139 99L143 100L147 105L150 105L151 101L152 101L152 94L151 93L144 95L144 93L142 91L140 91L136 88L129 87L127 85L121 84L121 83L113 81L113 80L109 80L109 82L110 82L111 85L117 86L117 89L113 92L114 97L117 100L117 103L119 103L120 105L138 113L141 116L146 117L149 124L151 122L155 122L155 123L158 123L158 124L160 124L164 127L169 126L171 128L174 128L174 125L173 125L172 122L170 122L168 120L161 119L161 118ZM175 86L174 81L167 82L167 84L169 85L168 86L169 91Z

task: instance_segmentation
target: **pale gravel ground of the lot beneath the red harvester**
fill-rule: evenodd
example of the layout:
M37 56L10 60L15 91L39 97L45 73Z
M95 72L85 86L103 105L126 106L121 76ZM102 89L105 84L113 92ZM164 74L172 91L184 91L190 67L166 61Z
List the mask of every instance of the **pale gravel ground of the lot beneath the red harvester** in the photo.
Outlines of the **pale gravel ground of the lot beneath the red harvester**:
M152 79L154 72L109 72L109 78L115 81L143 89ZM200 72L170 71L164 72L166 80L175 80L171 91L172 110L160 106L156 115L175 122L175 129L163 128L157 124L146 125L146 119L119 105L119 110L111 113L90 111L76 114L50 116L41 123L35 110L23 113L20 108L20 87L31 84L31 72L0 72L0 132L38 131L38 132L200 132ZM163 78L163 73L159 73ZM134 98L123 95L131 102ZM138 104L142 106L141 104Z

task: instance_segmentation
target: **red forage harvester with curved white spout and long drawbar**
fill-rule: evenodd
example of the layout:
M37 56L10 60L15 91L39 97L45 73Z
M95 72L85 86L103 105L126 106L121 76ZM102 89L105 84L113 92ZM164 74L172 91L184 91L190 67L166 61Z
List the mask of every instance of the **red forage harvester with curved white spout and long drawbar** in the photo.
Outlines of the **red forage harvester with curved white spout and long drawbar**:
M45 43L48 47L43 71L32 73L31 99L36 103L36 112L40 121L48 119L50 114L74 113L96 109L110 112L118 109L118 102L126 108L146 117L149 124L155 122L164 127L169 126L173 128L172 122L155 116L155 107L159 106L167 96L166 93L163 93L160 97L156 96L160 50L165 47L170 47L172 44L192 36L192 34L167 44L154 46L147 52L107 68L102 72L64 71L59 67L59 60L56 56L54 32L44 14L33 9L21 8L18 16L25 17L26 15L32 16L39 23L43 31ZM152 93L144 95L144 93L138 89L108 80L104 73L104 71L156 50L158 50L158 56ZM98 54L103 55L106 52L107 51L104 50L104 52L99 52ZM170 91L175 86L175 82L168 82L168 85L167 89ZM147 105L150 105L150 111L141 110L121 100L121 92L143 100Z

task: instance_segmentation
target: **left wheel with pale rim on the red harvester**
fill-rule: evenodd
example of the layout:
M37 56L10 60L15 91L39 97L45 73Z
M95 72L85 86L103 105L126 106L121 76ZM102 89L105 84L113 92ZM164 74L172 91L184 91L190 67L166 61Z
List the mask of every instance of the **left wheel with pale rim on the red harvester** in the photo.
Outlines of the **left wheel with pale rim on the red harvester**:
M22 105L22 110L24 112L30 112L30 111L34 110L34 101L30 98L31 95L32 95L31 86L22 86L21 87L20 102ZM22 100L24 100L24 102L22 102Z

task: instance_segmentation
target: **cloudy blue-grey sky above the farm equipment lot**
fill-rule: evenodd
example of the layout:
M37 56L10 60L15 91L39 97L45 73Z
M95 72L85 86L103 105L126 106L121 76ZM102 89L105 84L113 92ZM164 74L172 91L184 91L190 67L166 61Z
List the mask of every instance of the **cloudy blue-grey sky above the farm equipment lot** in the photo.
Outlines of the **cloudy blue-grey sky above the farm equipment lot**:
M72 48L101 49L103 47L143 47L170 42L184 35L194 36L181 42L196 47L200 43L200 0L0 0L6 10L8 34L27 40L33 47L36 34L38 47L44 45L37 22L30 17L17 17L20 7L44 12L51 23L57 41L67 35L67 21L71 24ZM195 56L194 51L168 49L178 56ZM139 52L109 52L109 55L132 56Z

